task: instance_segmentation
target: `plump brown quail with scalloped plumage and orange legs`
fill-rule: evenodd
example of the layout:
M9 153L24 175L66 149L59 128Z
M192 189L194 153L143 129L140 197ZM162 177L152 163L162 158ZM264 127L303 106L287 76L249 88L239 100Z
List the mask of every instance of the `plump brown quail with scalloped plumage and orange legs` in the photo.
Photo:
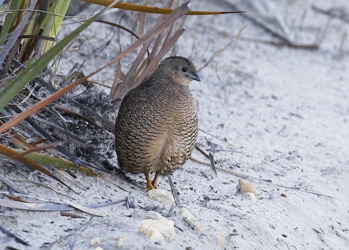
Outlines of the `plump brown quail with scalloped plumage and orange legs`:
M192 80L200 81L194 64L171 56L122 100L115 124L118 163L127 172L144 173L148 190L157 188L159 174L179 169L194 149L199 127Z

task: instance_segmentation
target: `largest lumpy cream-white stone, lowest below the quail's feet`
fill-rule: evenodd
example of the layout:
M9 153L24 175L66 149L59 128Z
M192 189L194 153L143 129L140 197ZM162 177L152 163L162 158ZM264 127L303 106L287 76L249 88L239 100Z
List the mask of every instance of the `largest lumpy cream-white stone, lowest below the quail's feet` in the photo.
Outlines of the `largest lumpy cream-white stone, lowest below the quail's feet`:
M147 217L156 217L158 219L146 219L140 221L139 231L146 234L147 238L154 243L157 242L163 244L164 237L169 238L172 241L176 235L174 232L174 222L166 219L160 214L156 214L156 212L148 213Z

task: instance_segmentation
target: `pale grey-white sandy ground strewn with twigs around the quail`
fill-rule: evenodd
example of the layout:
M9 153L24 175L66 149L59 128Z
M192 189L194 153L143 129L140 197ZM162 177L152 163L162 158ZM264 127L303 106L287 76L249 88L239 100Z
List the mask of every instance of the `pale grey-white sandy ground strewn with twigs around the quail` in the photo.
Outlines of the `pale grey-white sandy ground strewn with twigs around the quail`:
M319 49L247 41L279 40L240 15L221 15L186 17L187 30L174 51L189 57L200 68L247 24L239 39L199 72L201 83L193 82L191 87L198 104L199 127L222 139L200 132L198 144L206 152L214 152L218 165L251 177L247 181L258 192L256 203L236 194L239 177L219 170L216 176L209 166L189 160L173 174L173 180L182 205L196 217L201 230L192 229L174 209L168 219L176 225L176 236L172 241L165 238L163 244L154 244L139 232L138 223L146 219L147 211L138 206L126 207L125 202L99 208L106 217L91 218L89 214L70 211L85 217L77 219L63 217L59 212L14 209L12 215L0 216L1 224L31 247L9 241L3 234L1 244L15 249L109 250L117 249L118 244L118 249L220 249L218 232L222 232L225 241L221 249L349 249L349 2L272 3L289 28L292 41L318 42ZM338 8L338 13L346 13L347 21L329 18L313 10L312 5L324 10ZM190 7L232 9L225 1L194 1ZM135 18L115 10L109 16L112 21L121 19L121 14L116 13L126 13L122 19L126 21L121 21L125 25ZM101 31L100 27L105 27L102 24L95 27L99 29L92 26L81 35L79 51L65 54L61 65L66 68L61 72L86 58L83 71L87 73L116 55L118 44L111 42L104 47L108 40L117 38L116 33L109 28ZM62 31L69 29L72 28L67 25ZM100 37L104 37L102 45L96 43ZM123 45L126 48L127 42ZM95 80L110 83L112 76L113 69L109 69ZM193 154L205 159L198 151ZM103 176L130 193L79 174L79 181L88 190L80 195L69 193L73 202L99 203L130 194L136 205L158 205L157 212L169 213L169 207L148 198L142 188L143 176L130 176L133 183L122 182L113 172ZM54 181L46 183L67 192ZM167 178L159 180L159 187L170 190ZM24 188L40 198L70 200L43 187ZM126 237L123 245L120 236ZM101 242L92 246L90 240L94 237Z

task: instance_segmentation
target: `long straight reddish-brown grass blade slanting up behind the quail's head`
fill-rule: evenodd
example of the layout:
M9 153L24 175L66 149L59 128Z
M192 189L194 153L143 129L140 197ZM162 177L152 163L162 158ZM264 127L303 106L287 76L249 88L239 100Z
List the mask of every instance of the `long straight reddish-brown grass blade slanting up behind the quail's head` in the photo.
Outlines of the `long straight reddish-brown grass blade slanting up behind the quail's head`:
M135 50L136 48L138 48L140 45L150 41L151 39L153 39L156 35L158 35L159 33L161 33L164 29L166 29L167 27L169 27L174 21L176 21L179 17L183 16L185 13L187 13L189 11L189 8L187 6L187 3L184 3L182 5L180 5L177 9L175 9L170 15L167 16L167 18L161 23L159 24L158 27L154 27L153 29L151 29L151 31L149 33L147 33L146 35L142 36L139 40L137 40L135 43L133 43L130 47L128 47L125 51L122 51L117 57L115 57L114 59L112 59L109 63L105 64L103 67L101 67L100 69L90 73L88 76L85 76L77 81L75 81L74 83L61 88L60 90L58 90L57 92L49 95L48 97L40 100L39 102L35 103L33 106L31 106L30 108L28 108L27 110L25 110L24 112L18 114L16 117L14 117L13 119L11 119L10 121L6 122L5 124L3 124L2 126L0 126L0 134L4 133L5 131L7 131L9 128L12 128L13 126L15 126L16 124L18 124L19 122L21 122L23 119L29 117L31 114L37 112L38 110L42 109L43 107L45 107L46 105L48 105L49 103L51 103L52 101L56 100L57 98L61 97L63 94L65 94L66 92L72 90L75 86L79 85L80 83L82 83L83 81L87 80L89 77L93 76L94 74L96 74L97 72L101 71L102 69L104 69L105 67L113 64L114 62L116 62L118 59L124 57L125 55L127 55L128 53L132 52L133 50ZM97 17L96 17L97 18ZM86 24L86 23L84 23ZM83 25L84 25L83 24ZM78 28L79 29L79 28ZM69 35L67 36L69 37ZM65 37L65 38L67 38ZM63 38L63 40L65 39ZM62 41L63 41L62 40ZM61 42L62 42L61 41ZM69 40L67 41L67 43L69 42ZM53 46L49 51L47 51L45 53L45 55L47 53L50 53L51 50L53 50L55 47L57 47L59 43L57 43L55 46ZM44 56L45 56L44 55ZM54 55L52 55L54 56ZM35 61L34 63L32 63L32 65L34 65L37 61ZM33 68L33 67L31 67ZM40 68L41 69L41 68ZM24 71L23 71L24 72ZM23 75L23 72L19 75ZM30 71L29 71L30 72ZM36 75L37 72L35 72L34 76ZM18 78L18 77L17 77ZM14 80L16 80L17 78L15 78ZM30 78L31 79L31 78ZM24 83L26 84L27 80L29 79L25 79L24 76L22 76L20 83ZM18 81L17 81L18 82ZM8 86L8 85L7 85ZM6 87L7 87L6 86ZM25 86L25 85L24 85ZM4 88L6 88L4 87ZM3 88L3 89L4 89ZM3 90L2 89L2 90ZM2 92L2 90L0 91L0 94ZM20 91L20 90L18 90ZM1 97L1 95L0 95ZM2 104L2 99L0 98L0 109L2 109L1 107ZM6 105L6 103L5 103Z

